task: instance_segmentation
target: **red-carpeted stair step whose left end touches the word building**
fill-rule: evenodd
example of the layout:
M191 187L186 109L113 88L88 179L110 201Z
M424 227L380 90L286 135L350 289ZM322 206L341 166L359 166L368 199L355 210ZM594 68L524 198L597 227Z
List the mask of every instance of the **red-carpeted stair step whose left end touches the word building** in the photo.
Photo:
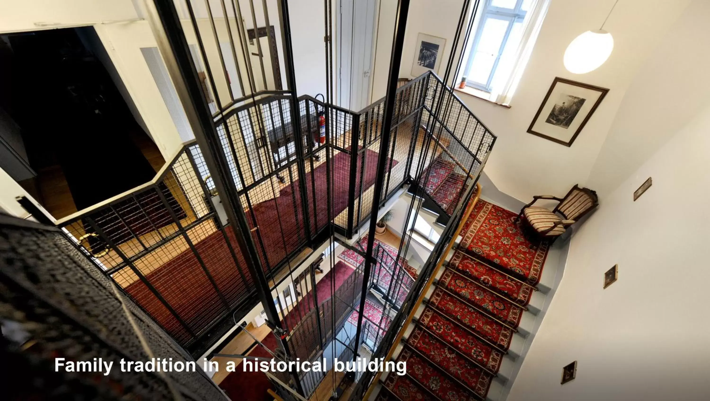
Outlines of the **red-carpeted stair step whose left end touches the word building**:
M405 348L397 358L407 364L407 375L439 400L478 401L468 389L452 380L432 363L417 353Z

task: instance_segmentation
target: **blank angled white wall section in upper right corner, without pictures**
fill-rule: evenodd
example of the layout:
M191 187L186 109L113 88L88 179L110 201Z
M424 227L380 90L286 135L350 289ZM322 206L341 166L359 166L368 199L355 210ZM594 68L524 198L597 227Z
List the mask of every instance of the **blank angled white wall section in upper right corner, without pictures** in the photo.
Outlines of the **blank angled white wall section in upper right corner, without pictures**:
M710 2L694 1L640 68L619 106L589 185L616 188L710 103Z

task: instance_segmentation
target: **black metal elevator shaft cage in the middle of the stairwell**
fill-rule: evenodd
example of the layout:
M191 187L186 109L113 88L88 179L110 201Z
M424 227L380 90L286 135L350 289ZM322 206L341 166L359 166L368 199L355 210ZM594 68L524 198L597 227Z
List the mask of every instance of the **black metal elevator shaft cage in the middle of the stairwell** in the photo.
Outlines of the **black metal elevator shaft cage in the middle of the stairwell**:
M383 356L443 257L441 244L496 136L433 72L396 91L389 85L388 97L361 111L296 97L285 0L276 2L276 24L266 1L179 3L155 0L148 19L197 141L151 182L53 223L192 356L209 351L259 302L286 358L312 360L331 344L341 359L361 345ZM416 195L406 221L422 199L449 221L418 278L400 265L411 236L394 254L368 246L373 235L361 237L403 189ZM43 216L31 202L23 206ZM318 300L313 267L297 260L336 236L354 240L362 262ZM295 290L290 302L278 291L284 284ZM395 314L391 322L364 317L370 290L385 302L383 317ZM351 316L358 331L339 337ZM278 379L307 397L323 375ZM371 375L355 379L367 384Z

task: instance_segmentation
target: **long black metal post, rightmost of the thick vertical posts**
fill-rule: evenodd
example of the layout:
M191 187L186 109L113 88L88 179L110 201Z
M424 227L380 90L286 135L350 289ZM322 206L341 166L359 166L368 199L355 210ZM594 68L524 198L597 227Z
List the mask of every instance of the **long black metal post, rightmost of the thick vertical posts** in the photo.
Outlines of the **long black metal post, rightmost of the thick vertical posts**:
M357 331L355 333L355 345L353 347L354 356L357 357L359 341L362 330L363 310L365 309L365 296L367 295L367 283L370 280L370 270L372 269L372 251L375 244L375 226L377 225L377 211L382 197L382 187L385 179L385 168L387 166L388 148L390 145L390 129L392 128L392 118L395 111L395 95L397 92L397 79L399 77L400 64L402 63L402 48L404 45L404 34L407 26L409 14L409 0L400 0L397 5L397 20L395 23L394 40L392 45L392 55L390 57L390 73L387 78L387 97L385 98L385 112L382 123L382 135L380 137L380 154L377 158L377 176L372 195L372 209L370 213L370 229L367 236L367 249L365 250L365 271L362 282L362 293L360 297L360 308L357 318ZM395 263L396 264L396 263Z

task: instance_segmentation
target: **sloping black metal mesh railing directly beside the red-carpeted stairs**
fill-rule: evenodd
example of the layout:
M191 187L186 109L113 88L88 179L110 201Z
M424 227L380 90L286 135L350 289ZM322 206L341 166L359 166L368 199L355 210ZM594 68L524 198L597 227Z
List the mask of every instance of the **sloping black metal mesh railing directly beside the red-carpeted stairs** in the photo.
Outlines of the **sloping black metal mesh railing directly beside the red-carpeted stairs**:
M420 120L417 121L417 127L421 128L419 134L422 138L422 150L411 158L409 172L413 177L411 184L415 187L415 193L433 201L438 205L439 212L447 214L450 219L429 258L422 265L417 279L413 280L406 290L406 296L400 302L400 306L395 308L396 298L388 300L391 303L391 310L394 309L396 314L391 322L388 321L387 327L381 324L365 325L361 337L363 343L367 344L368 339L371 339L373 333L375 334L371 358L385 358L390 348L396 345L394 341L398 332L413 309L418 306L415 300L420 296L439 260L446 257L444 251L447 244L452 241L496 141L496 137L466 108L449 87L444 85L436 75L428 76L427 89L424 92L425 104L422 106ZM439 165L445 168L442 170ZM442 171L445 174L442 174ZM442 193L446 196L439 197ZM407 221L417 213L423 203L422 200L425 200L420 197L413 197ZM406 242L403 240L400 244L397 257L406 254L408 249ZM409 280L401 278L393 280L389 293L399 294L399 291L408 284ZM387 306L385 313L388 312ZM382 332L384 334L381 335ZM356 383L349 400L360 400L374 377L373 373L364 373Z

